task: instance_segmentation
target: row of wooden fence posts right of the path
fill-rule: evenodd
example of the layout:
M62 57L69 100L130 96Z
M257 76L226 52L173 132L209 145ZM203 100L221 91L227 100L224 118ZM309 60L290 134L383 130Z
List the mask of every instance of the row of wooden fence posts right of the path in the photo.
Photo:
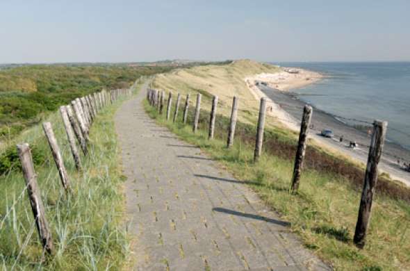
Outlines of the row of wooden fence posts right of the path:
M165 92L162 92L162 97L165 95ZM179 95L179 94L178 94ZM164 104L164 99L159 99L159 92L158 90L152 90L148 89L147 90L147 100L149 104L154 108L154 110L158 111L158 115L155 117L163 115L161 113L160 108L162 108ZM200 108L201 108L201 93L197 94L197 102L195 106L195 118L192 122L192 133L197 132L197 127L198 127L198 122L199 122L199 114L200 114ZM187 100L188 100L187 96ZM236 122L237 122L237 117L238 117L238 97L234 96L232 97L232 106L231 106L231 117L229 121L229 126L227 129L227 134L228 134L228 140L227 140L227 149L231 148L233 146L233 140L234 140L234 134L235 134L235 129L236 129ZM218 101L217 96L213 96L213 101ZM178 104L178 101L177 101ZM256 137L255 137L255 147L254 147L254 161L253 163L256 164L259 161L259 156L261 156L261 149L263 148L263 133L265 130L265 113L266 113L266 104L267 104L267 98L266 97L261 97L260 104L259 104L259 117L258 117L258 122L256 126ZM273 103L272 103L273 104ZM276 104L275 104L276 105ZM167 116L165 118L166 121L170 121L169 117L169 112L172 108L172 92L170 92L169 98L167 100ZM176 105L175 107L175 113L177 113L177 108L178 106ZM272 110L272 108L270 108ZM297 107L298 110L300 110L299 107ZM188 102L186 102L186 108L185 110L188 110ZM213 123L215 122L214 116L215 116L215 110L216 110L216 103L214 104L211 108L211 114L209 116L209 126L208 126L208 135L213 135L213 129L215 126ZM293 174L292 174L292 179L291 179L291 184L289 188L289 192L293 195L298 195L297 190L299 189L300 186L300 180L301 180L301 174L303 170L303 164L304 164L304 157L306 154L306 147L308 145L307 138L308 138L308 132L309 128L313 130L320 131L320 127L316 126L314 127L311 124L311 115L312 115L312 107L311 106L304 106L303 107L303 113L302 113L302 118L300 122L300 132L299 132L299 139L297 142L297 149L295 151L295 161L294 161L294 166L293 166ZM174 120L175 122L175 120ZM293 117L290 117L289 120L286 120L286 122L293 122ZM185 124L185 120L183 120L183 123ZM378 168L377 165L379 164L380 158L382 156L382 149L384 145L384 141L386 138L386 129L387 129L387 122L384 121L375 121L372 123L372 131L371 131L371 146L369 146L369 151L368 151L368 163L367 163L367 169L366 172L364 172L364 186L363 190L361 193L361 201L359 205L359 215L357 217L357 222L356 222L356 229L354 232L354 244L356 247L363 248L365 243L366 243L366 231L368 229L368 222L370 218L370 211L371 211L371 206L372 206L372 200L373 200L373 194L375 191L375 186L377 184L377 176L378 176ZM321 132L322 133L322 132ZM333 137L334 135L331 134L331 136L323 134L323 136L327 137ZM213 140L212 136L208 136L208 140ZM343 142L343 138L341 138L340 142ZM356 147L356 143L352 145L352 142L350 142L350 146Z

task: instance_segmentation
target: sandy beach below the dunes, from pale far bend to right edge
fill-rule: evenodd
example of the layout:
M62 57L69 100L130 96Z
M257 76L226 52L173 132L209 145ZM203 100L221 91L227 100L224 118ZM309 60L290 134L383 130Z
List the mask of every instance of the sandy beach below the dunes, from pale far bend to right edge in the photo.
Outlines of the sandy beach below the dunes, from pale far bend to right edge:
M268 110L268 114L276 117L282 124L294 131L299 131L300 129L302 108L306 103L300 100L291 90L315 83L323 77L317 72L305 69L298 70L298 74L290 74L284 71L277 74L257 74L245 79L249 90L253 92L256 99L261 97L268 97L270 99L272 108ZM348 126L337 120L333 115L318 110L318 108L313 108L311 124L310 137L314 138L320 145L331 151L336 151L336 153L349 156L356 162L366 164L368 145L370 144L370 136L367 133ZM333 131L334 138L323 138L320 136L322 129ZM341 136L344 138L343 142L340 142ZM359 146L354 149L351 148L349 146L350 141L355 141ZM390 174L392 179L410 186L410 173L397 165L397 157L395 157L398 156L410 161L410 152L392 142L385 143L384 151L386 154L382 156L382 161L379 164L380 171L386 172Z

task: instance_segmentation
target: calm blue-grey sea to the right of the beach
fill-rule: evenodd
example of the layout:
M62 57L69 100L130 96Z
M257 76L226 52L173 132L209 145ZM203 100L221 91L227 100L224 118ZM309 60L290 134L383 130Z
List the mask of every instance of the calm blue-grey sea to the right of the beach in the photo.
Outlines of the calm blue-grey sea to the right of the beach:
M387 120L387 138L410 149L410 63L276 63L325 74L293 90L300 99L333 115Z

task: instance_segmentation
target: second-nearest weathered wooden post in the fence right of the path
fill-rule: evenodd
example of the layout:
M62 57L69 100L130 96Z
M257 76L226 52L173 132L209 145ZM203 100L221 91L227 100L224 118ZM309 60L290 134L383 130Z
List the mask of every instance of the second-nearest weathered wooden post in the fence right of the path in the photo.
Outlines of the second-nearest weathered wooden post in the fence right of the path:
M297 143L297 151L295 156L295 167L293 168L292 184L290 185L290 192L296 192L299 188L300 175L302 174L304 153L306 151L307 136L309 133L309 124L312 118L311 106L304 106L302 123L300 124L299 142Z

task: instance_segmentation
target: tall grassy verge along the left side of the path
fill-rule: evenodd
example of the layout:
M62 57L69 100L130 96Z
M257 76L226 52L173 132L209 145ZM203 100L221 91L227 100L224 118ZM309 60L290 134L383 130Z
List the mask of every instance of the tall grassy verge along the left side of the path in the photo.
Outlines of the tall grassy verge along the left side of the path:
M51 227L56 253L41 261L42 247L18 167L0 175L0 266L2 270L118 270L128 251L122 226L120 151L113 115L121 100L101 110L90 129L83 172L75 170L63 123L49 115L69 174L73 195L66 199L58 171L40 125L15 142L28 142L35 157L38 185ZM12 148L13 149L13 148ZM10 149L11 150L11 149ZM9 154L15 163L13 151ZM13 160L14 159L14 160Z

